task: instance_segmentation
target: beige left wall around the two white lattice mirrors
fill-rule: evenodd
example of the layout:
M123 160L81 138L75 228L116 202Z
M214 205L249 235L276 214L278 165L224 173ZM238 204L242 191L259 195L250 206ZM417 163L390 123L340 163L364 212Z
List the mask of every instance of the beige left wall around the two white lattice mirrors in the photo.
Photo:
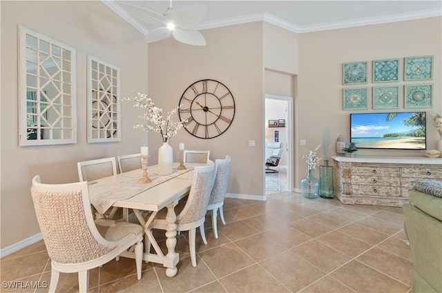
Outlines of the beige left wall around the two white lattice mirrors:
M1 247L39 233L30 197L32 177L78 181L77 161L140 152L132 105L122 103L122 142L86 143L86 54L117 65L122 96L147 89L142 35L101 1L1 1ZM77 50L78 143L18 146L17 25Z

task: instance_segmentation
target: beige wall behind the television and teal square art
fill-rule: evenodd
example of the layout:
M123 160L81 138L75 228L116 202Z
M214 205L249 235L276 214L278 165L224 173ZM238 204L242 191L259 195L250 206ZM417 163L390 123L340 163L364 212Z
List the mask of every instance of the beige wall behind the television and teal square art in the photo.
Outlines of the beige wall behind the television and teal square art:
M343 111L342 63L344 62L369 61L371 63L376 59L400 58L403 64L403 57L433 55L433 80L423 81L423 83L434 84L433 107L420 108L420 110L427 111L427 148L436 148L436 139L439 136L429 116L435 112L440 113L442 110L441 19L441 17L433 17L299 35L297 137L307 139L307 145L299 146L298 161L301 178L307 174L307 165L302 155L308 154L309 150L316 147L325 127L332 129L332 143L336 142L339 134L349 141L349 113L352 111ZM369 64L369 72L371 68ZM369 83L362 85L369 88L369 109L372 108L371 76L369 73ZM397 111L404 111L403 70L400 71L399 77L401 107ZM373 110L355 110L354 112L370 111ZM358 150L358 154L423 156L425 150ZM322 156L322 152L320 155ZM318 175L318 170L316 170L316 175ZM299 177L295 180L297 186L299 180Z

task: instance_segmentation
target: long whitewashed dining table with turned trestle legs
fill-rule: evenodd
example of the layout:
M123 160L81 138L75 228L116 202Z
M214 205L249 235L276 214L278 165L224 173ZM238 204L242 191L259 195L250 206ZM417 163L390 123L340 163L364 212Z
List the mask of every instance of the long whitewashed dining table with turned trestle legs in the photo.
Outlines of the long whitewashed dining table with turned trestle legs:
M177 170L178 165L178 163L173 164L173 173L169 175L158 174L158 165L148 166L150 183L138 182L142 176L142 169L88 182L90 203L100 214L104 214L109 208L133 210L137 221L144 228L144 237L147 236L155 251L155 253L144 252L143 260L161 263L166 267L166 275L169 277L177 274L177 263L180 260L179 254L175 252L177 216L174 208L178 201L187 196L191 190L193 168L206 164L186 163L185 170ZM167 209L166 255L160 249L150 227L157 212L163 208ZM148 215L145 217L145 214ZM135 258L135 254L131 251L124 252L122 256Z

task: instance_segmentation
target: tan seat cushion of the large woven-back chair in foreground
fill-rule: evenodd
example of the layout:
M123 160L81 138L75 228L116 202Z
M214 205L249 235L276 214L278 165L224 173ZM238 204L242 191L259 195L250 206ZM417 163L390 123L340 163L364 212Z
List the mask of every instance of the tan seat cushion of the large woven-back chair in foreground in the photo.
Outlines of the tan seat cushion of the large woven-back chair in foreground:
M141 225L124 221L98 219L95 221L99 234L107 241L115 242L123 239L128 234L140 234L143 232Z

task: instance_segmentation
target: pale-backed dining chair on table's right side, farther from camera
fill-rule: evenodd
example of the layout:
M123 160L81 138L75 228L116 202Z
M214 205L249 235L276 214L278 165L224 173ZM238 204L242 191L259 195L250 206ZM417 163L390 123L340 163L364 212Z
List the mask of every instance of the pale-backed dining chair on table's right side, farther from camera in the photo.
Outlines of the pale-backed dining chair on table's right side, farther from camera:
M229 184L230 168L232 165L232 160L230 156L226 156L226 159L216 159L215 168L215 184L211 192L209 205L207 206L208 211L212 211L212 227L213 235L218 238L218 227L217 218L218 210L220 211L220 218L223 225L226 225L224 220L224 213L222 211L222 206L224 205L224 198L226 197L227 185Z

